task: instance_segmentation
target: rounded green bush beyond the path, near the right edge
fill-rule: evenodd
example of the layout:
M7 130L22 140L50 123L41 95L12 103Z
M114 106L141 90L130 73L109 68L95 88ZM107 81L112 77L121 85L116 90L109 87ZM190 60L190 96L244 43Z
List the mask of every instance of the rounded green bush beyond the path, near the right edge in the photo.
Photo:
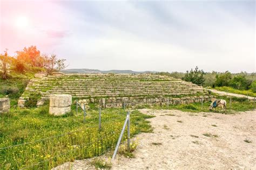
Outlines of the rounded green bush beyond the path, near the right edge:
M250 87L251 81L247 80L245 76L234 76L230 81L230 86L238 90L247 90Z

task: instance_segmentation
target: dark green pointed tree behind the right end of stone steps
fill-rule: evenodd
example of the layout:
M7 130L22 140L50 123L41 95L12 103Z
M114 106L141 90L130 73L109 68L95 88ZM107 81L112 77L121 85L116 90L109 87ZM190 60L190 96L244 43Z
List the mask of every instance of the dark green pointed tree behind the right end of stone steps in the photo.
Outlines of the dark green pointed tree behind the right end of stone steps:
M196 67L195 70L191 69L190 72L187 71L183 80L202 86L205 81L204 74L203 70L199 70L198 67Z

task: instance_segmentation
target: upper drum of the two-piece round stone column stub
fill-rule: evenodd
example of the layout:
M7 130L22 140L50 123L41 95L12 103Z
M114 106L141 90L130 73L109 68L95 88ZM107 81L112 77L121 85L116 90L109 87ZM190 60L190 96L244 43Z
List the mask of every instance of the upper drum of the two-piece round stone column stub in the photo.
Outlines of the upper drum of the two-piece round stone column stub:
M50 95L50 107L64 108L70 107L72 103L71 95Z

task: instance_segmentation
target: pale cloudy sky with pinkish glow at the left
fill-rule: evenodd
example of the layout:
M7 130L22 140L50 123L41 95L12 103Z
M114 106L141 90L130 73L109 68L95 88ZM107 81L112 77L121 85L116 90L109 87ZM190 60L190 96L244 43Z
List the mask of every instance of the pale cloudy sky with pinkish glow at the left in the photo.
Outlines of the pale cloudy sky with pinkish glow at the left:
M36 45L65 58L69 68L185 72L198 66L207 72L255 72L254 1L15 3L37 9L19 14L28 18L48 12L38 15L41 23L31 19L35 29L26 34L39 35L42 41L20 36L21 41L9 45L1 38L1 51ZM10 6L2 3L1 9ZM1 34L6 37L6 32Z

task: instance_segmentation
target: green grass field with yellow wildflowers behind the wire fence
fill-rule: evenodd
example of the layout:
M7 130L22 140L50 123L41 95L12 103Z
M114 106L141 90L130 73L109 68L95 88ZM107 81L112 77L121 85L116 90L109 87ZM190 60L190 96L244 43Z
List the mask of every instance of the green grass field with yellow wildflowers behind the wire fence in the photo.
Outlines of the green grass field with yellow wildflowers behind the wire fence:
M48 114L49 106L33 109L11 109L0 115L0 148L58 136L0 150L0 169L49 169L74 159L91 158L103 154L117 143L126 117L122 109L102 110L102 130L98 130L98 110L89 110L86 121L83 115L72 110L65 116ZM75 108L75 106L72 106ZM131 112L131 137L140 132L152 132L147 116ZM68 133L71 132L71 133ZM127 137L126 132L123 140ZM49 159L49 160L48 160Z

